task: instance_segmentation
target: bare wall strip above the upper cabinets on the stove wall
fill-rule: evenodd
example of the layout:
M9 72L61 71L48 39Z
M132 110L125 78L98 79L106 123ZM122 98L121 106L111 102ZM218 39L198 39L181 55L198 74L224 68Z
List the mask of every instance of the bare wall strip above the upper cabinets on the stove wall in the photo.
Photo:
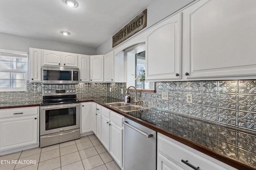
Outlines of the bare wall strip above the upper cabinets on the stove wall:
M85 55L96 54L96 48L92 47L85 47L74 44L60 43L56 41L48 41L43 39L34 39L18 35L0 33L0 49L28 52L29 47Z

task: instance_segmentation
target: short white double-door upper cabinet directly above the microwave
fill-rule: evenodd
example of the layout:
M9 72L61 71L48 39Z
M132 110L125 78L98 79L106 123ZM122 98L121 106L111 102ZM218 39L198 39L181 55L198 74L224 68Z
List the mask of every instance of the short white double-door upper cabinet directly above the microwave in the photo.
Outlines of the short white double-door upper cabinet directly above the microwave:
M43 50L44 65L78 67L78 55L60 51Z

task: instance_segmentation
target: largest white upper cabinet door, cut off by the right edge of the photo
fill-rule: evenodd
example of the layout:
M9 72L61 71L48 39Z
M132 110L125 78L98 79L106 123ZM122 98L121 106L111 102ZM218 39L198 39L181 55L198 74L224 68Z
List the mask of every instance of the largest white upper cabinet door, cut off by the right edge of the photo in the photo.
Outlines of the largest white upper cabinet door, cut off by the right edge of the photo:
M186 78L256 75L255 6L255 0L202 0L184 10Z

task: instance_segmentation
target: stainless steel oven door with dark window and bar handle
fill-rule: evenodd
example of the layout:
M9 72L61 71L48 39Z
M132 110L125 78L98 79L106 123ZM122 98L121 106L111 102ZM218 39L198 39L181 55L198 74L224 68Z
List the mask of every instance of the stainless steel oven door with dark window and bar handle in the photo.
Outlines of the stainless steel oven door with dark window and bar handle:
M80 128L80 103L40 106L40 135Z

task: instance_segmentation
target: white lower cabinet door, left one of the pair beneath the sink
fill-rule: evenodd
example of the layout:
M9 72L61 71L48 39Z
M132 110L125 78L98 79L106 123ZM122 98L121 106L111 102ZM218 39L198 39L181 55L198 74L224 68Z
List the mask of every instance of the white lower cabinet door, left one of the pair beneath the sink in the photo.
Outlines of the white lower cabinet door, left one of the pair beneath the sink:
M101 115L101 143L109 151L110 142L110 119Z

